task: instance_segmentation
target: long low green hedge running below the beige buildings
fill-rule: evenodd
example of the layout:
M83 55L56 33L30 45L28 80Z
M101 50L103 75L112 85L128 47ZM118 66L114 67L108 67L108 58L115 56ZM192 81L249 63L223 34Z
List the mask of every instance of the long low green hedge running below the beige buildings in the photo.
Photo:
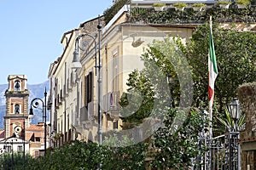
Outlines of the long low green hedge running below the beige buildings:
M114 139L113 139L114 140ZM55 149L47 156L34 158L26 165L27 169L145 169L144 159L147 144L135 144L128 147L108 147L96 143L75 141Z

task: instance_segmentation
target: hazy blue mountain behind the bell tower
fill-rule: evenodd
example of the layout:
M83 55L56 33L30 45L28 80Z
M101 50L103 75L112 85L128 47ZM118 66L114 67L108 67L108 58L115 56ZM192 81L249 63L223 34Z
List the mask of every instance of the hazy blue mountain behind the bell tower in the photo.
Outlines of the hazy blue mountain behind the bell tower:
M5 91L8 88L8 84L0 84L0 128L3 128L4 126L4 120L3 116L5 116ZM29 108L30 108L30 103L32 99L34 98L40 98L44 100L44 91L46 88L47 95L49 94L49 81L43 82L41 84L27 84L27 88L29 90ZM45 104L47 105L47 104ZM41 103L40 103L41 106ZM34 117L32 119L32 123L38 123L38 122L43 122L43 114L42 111L39 109L34 109ZM47 120L49 120L49 113L47 111Z

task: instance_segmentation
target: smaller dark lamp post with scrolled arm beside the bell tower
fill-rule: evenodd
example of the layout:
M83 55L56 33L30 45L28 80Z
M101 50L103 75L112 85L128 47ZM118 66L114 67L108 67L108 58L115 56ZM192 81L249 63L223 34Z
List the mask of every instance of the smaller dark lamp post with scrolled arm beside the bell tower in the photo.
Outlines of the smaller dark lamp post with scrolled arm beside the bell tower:
M33 108L38 108L40 106L40 104L38 103L38 101L42 102L42 106L43 106L43 122L44 122L44 156L46 155L46 88L44 91L44 100L40 99L40 98L35 98L32 99L31 101L31 105L30 105L30 111L29 111L29 116L33 116Z

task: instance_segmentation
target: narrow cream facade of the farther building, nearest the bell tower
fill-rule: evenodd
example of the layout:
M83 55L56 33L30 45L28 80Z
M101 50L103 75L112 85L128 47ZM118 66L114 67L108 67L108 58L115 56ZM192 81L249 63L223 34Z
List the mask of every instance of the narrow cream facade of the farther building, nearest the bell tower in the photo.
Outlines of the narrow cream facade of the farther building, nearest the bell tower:
M49 146L62 144L72 138L71 125L75 122L72 116L77 98L73 90L76 83L70 64L75 37L76 30L68 31L63 35L61 39L63 54L49 67L48 109L51 125Z

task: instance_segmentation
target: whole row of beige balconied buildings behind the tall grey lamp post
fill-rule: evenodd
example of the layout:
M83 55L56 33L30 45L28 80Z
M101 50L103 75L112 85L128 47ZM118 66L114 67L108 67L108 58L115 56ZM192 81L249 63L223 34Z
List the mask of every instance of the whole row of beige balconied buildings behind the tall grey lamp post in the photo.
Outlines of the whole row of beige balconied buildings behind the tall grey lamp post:
M128 88L126 82L129 73L143 69L140 57L144 48L154 39L163 40L168 36L179 36L186 41L195 30L195 26L132 24L127 18L129 10L130 5L125 5L106 26L101 16L63 35L63 54L49 68L52 145L58 146L74 139L98 140L99 74L96 64L99 63L99 54L102 66L99 104L102 133L107 133L122 129L119 99ZM100 44L99 20L102 24ZM77 37L81 35L84 36L78 40ZM76 42L79 44L80 68L73 68ZM57 139L56 136L61 138Z

